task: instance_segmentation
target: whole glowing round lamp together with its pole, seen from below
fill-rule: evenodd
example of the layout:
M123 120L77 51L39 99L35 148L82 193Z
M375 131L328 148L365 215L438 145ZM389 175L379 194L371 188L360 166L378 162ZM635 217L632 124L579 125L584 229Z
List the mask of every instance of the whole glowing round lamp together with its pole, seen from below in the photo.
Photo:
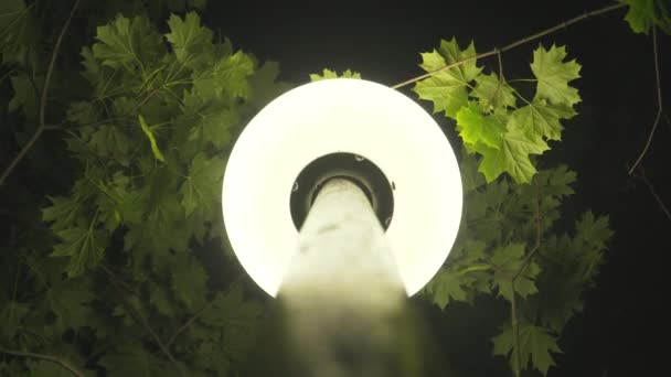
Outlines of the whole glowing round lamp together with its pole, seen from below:
M352 371L332 352L315 349L341 335L333 326L343 317L384 322L433 278L461 196L435 120L394 89L343 78L295 88L252 119L231 152L222 204L242 266L285 300L296 344L323 358L308 375L344 376ZM384 375L365 368L361 376Z

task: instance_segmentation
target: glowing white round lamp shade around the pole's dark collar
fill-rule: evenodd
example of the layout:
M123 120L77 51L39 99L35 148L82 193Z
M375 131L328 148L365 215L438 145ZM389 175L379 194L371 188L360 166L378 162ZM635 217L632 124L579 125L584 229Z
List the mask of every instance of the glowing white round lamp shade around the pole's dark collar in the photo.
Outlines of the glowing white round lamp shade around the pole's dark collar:
M326 79L268 104L228 158L222 205L233 249L268 294L278 292L297 249L290 196L301 171L333 153L372 162L393 187L386 238L408 295L444 263L461 217L452 149L430 115L386 86Z

